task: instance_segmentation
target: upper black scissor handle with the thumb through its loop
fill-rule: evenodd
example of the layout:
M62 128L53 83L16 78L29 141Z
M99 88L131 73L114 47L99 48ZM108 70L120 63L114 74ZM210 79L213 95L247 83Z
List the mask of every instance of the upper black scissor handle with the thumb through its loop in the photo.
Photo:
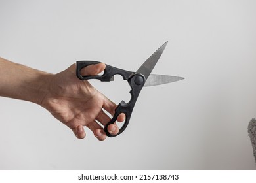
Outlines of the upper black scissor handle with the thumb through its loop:
M101 81L112 81L114 75L121 75L123 76L123 80L127 80L133 72L131 71L125 71L123 69L119 69L116 67L112 67L110 65L106 65L106 68L104 69L104 73L101 76L82 76L81 75L81 69L84 67L87 67L89 65L95 65L100 63L99 61L77 61L76 62L76 75L81 80L89 80L89 79L97 79Z

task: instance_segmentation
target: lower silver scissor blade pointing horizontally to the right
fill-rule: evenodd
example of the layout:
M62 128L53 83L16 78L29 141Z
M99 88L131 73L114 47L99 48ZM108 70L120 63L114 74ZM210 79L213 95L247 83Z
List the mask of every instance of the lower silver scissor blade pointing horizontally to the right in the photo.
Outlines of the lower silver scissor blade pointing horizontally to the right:
M160 84L166 84L169 82L175 82L182 80L184 78L177 77L177 76L167 76L167 75L153 75L151 74L148 79L146 80L146 83L144 86L155 86Z

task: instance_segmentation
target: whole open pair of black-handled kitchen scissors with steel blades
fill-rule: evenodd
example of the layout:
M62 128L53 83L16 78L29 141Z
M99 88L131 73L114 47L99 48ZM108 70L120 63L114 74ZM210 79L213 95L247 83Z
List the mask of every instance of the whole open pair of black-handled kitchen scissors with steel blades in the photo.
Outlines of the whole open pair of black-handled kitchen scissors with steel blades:
M136 72L126 71L123 69L112 67L110 65L106 65L106 69L104 69L104 73L101 76L98 76L98 75L82 76L80 73L81 69L89 65L95 65L100 62L77 61L76 74L80 80L98 79L102 82L110 82L114 80L114 75L121 75L123 77L123 80L127 80L129 85L131 86L130 101L128 103L125 103L125 101L121 101L121 103L119 103L119 105L117 105L115 109L115 114L113 118L104 127L104 131L108 137L116 137L126 129L127 125L129 124L131 114L133 112L133 108L135 106L137 98L139 97L140 91L144 86L155 86L159 84L165 84L165 83L175 82L175 81L184 79L178 76L152 75L152 74L150 75L156 63L158 62L158 59L160 59L160 56L163 53L163 50L165 49L165 46L167 45L167 43L168 41L165 42L165 44L163 44L160 48L158 48L158 50L156 50L156 52L154 52L154 54L152 54L152 56L150 56L150 58L148 58ZM117 120L117 117L121 113L125 114L125 122L123 126L119 129L119 133L117 133L116 135L112 135L108 132L108 125L114 124Z

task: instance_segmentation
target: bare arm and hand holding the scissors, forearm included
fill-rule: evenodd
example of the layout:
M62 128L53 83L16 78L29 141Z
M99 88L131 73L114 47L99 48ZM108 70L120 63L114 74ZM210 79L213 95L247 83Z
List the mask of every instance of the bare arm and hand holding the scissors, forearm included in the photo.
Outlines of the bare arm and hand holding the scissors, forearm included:
M81 70L81 75L98 75L105 67L104 63L90 65ZM72 129L78 139L85 138L83 127L88 127L98 140L103 141L106 133L96 121L106 125L110 117L102 108L113 116L116 104L87 80L79 80L75 69L73 64L60 73L50 74L0 58L0 96L41 105ZM118 122L124 120L125 114L117 118ZM112 124L108 131L116 135L119 129Z

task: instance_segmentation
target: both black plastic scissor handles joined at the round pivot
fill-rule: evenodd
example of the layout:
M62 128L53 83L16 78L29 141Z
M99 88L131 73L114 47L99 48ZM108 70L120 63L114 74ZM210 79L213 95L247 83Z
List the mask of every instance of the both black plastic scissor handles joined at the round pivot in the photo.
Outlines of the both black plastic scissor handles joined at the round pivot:
M82 76L80 71L83 69L83 67L87 67L89 65L94 65L100 63L98 61L77 61L77 77L81 80L89 80L89 79L98 79L101 81L111 81L112 77L114 75L121 75L123 76L124 80L128 80L129 85L131 86L131 99L129 103L125 103L125 101L121 101L119 105L117 105L115 109L115 114L113 118L106 124L104 127L104 131L108 137L116 137L117 135L120 135L127 127L129 124L131 114L133 112L133 108L135 106L135 103L137 101L137 98L139 96L140 91L142 90L146 79L144 76L140 73L134 73L131 71L125 71L123 69L119 69L116 67L112 67L110 65L106 65L106 69L104 69L104 73L102 76ZM110 124L114 124L117 120L117 117L119 114L124 113L125 114L125 122L122 125L122 127L119 129L119 132L117 135L112 135L108 132L108 126Z

